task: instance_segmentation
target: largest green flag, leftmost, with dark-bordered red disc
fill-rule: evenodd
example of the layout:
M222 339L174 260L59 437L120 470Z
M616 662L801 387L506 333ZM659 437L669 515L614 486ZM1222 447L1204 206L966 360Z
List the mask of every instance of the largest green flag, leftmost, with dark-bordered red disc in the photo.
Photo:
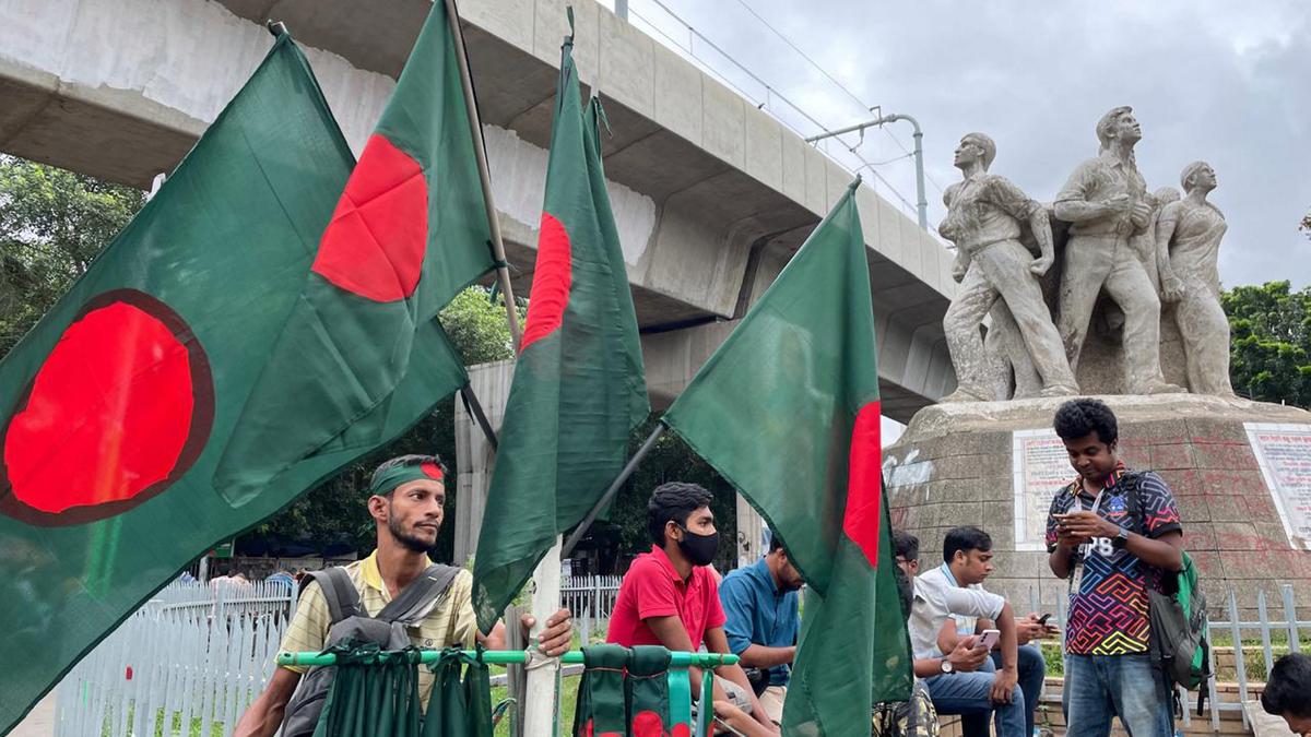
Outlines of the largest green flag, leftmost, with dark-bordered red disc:
M0 362L0 733L189 561L351 460L241 508L211 481L351 164L283 35Z

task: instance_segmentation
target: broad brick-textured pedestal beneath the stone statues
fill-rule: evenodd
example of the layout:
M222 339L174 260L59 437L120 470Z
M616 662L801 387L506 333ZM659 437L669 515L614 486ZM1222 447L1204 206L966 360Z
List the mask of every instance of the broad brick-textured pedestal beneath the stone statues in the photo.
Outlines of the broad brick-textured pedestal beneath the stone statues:
M1239 608L1255 614L1257 591L1264 589L1272 603L1278 602L1282 584L1294 585L1299 603L1311 603L1306 594L1311 546L1297 535L1295 521L1290 534L1281 518L1268 484L1269 464L1262 469L1257 443L1249 438L1257 429L1253 424L1266 431L1278 426L1311 433L1311 413L1197 395L1100 399L1120 420L1125 463L1159 472L1173 489L1185 546L1213 607L1223 606L1232 588ZM1059 468L1063 448L1049 446L1047 476L1038 483L1032 471L1029 481L1024 476L1025 464L1036 466L1032 448L1044 435L1055 439L1051 418L1061 401L928 407L884 450L893 525L919 536L922 568L941 561L948 530L978 526L992 536L998 552L986 588L1011 599L1016 611L1027 612L1033 594L1044 611L1055 611L1066 582L1049 570L1040 531L1053 494L1074 479L1074 471ZM1302 483L1311 481L1311 445L1307 448ZM1311 513L1306 494L1301 498L1291 504Z

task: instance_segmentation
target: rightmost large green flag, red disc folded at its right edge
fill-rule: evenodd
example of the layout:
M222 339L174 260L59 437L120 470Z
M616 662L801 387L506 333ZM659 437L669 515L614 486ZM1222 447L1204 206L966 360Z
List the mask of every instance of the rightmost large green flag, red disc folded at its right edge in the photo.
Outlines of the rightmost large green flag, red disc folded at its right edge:
M809 584L785 734L868 736L872 703L905 700L911 686L859 181L665 414Z

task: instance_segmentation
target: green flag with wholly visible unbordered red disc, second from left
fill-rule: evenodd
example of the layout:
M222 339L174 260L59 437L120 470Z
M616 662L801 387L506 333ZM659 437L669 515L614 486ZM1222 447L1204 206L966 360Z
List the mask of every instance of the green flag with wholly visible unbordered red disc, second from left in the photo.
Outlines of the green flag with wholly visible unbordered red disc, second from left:
M468 380L437 315L493 262L455 54L434 3L224 451L232 504L307 458L391 441Z

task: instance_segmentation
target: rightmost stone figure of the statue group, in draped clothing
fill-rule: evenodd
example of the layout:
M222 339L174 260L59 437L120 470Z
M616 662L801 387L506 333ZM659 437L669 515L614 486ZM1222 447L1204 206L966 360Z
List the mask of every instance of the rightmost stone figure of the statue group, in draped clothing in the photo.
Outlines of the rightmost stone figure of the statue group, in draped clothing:
M1162 299L1179 303L1175 324L1184 338L1188 388L1234 396L1219 275L1221 239L1228 226L1224 214L1206 201L1218 184L1215 170L1206 161L1193 161L1179 178L1186 194L1167 205L1156 223Z

